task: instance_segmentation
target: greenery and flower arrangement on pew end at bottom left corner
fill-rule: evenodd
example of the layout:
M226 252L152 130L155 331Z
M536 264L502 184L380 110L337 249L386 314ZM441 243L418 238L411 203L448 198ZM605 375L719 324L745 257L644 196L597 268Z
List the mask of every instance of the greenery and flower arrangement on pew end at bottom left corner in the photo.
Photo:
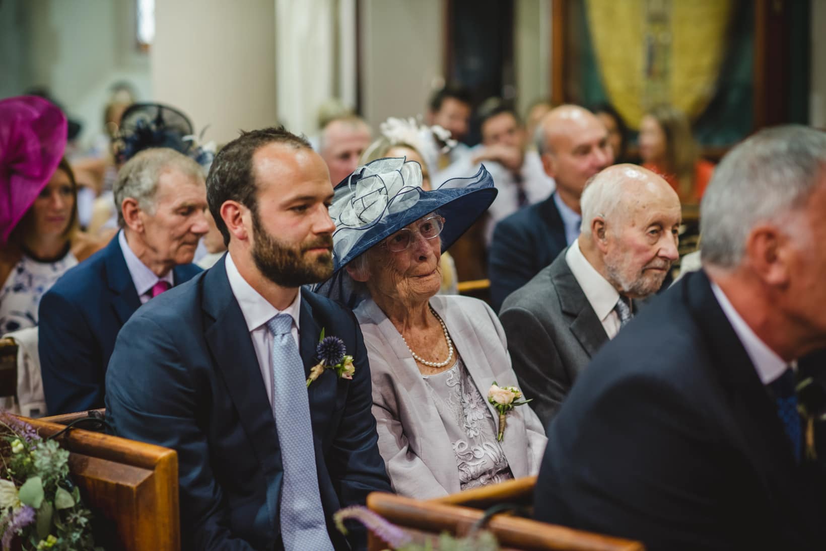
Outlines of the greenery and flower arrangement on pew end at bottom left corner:
M96 549L91 517L69 479L69 451L0 412L0 543L23 551Z

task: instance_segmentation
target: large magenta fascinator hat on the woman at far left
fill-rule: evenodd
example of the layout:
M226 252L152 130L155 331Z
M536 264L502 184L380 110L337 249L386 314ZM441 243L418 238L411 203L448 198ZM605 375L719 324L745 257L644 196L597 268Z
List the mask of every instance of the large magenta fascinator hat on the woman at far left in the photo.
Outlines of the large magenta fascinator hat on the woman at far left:
M0 245L55 173L66 131L66 115L42 97L0 101Z

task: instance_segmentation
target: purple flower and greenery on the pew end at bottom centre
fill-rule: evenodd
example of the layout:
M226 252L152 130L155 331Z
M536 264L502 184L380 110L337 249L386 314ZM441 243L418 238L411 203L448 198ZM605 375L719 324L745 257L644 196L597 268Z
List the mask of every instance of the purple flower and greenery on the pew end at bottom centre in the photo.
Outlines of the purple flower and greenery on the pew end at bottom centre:
M472 530L464 538L454 538L447 533L439 536L438 544L433 542L417 544L406 531L398 526L387 522L367 507L350 506L341 509L333 516L335 527L339 532L346 535L344 520L358 520L365 528L373 532L384 540L392 549L396 551L498 551L499 544L496 538L487 530Z

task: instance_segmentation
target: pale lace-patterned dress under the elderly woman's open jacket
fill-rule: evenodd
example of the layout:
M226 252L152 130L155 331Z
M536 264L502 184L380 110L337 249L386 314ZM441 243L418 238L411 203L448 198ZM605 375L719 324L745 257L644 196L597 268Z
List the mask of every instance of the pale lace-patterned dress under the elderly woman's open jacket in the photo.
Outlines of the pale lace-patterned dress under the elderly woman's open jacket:
M422 379L453 445L462 490L513 478L496 441L496 421L463 361Z

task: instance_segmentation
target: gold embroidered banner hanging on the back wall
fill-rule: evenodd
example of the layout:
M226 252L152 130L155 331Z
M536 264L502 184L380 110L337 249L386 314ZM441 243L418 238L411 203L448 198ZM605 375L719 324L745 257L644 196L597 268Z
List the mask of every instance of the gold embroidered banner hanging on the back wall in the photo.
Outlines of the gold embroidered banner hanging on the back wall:
M585 0L596 62L611 103L638 128L670 103L692 119L714 96L733 0Z

